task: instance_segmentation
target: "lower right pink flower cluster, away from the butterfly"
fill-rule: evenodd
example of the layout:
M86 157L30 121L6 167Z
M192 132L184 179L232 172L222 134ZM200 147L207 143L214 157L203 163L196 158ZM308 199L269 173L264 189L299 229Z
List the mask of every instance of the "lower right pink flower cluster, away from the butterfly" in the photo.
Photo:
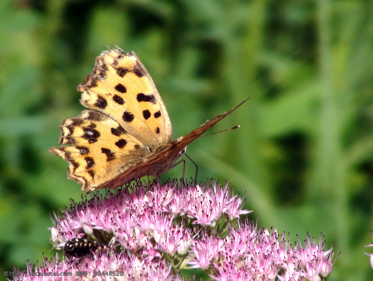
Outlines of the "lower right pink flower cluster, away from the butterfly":
M333 253L324 243L307 235L305 247L291 244L276 229L257 230L250 222L230 228L224 238L213 236L193 241L191 268L209 270L211 280L320 281L332 271ZM277 278L277 279L276 279Z

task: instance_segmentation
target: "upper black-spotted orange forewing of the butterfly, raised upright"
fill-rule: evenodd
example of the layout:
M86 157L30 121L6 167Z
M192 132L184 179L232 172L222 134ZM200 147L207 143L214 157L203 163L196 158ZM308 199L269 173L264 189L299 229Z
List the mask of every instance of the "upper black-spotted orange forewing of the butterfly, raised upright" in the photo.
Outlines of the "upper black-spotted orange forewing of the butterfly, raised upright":
M81 104L117 121L145 145L169 143L172 127L153 80L134 52L110 49L78 86Z

